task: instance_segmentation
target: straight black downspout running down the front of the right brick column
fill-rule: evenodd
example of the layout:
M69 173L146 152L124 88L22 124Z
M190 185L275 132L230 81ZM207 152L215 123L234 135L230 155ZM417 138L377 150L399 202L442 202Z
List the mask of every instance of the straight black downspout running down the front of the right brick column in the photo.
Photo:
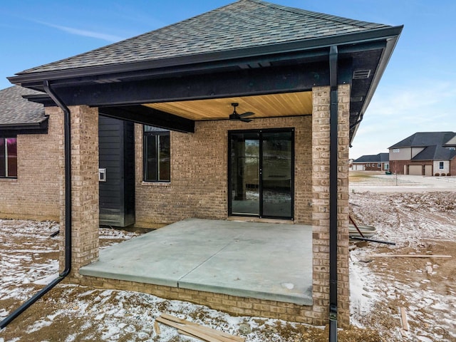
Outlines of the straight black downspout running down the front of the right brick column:
M329 342L337 342L338 50L329 50Z

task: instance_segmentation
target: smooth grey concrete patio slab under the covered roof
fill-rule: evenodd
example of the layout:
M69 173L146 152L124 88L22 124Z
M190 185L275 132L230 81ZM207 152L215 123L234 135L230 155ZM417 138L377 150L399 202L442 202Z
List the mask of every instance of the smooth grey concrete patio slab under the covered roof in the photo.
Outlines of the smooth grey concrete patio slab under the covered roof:
M312 304L312 229L185 219L100 250L80 274Z

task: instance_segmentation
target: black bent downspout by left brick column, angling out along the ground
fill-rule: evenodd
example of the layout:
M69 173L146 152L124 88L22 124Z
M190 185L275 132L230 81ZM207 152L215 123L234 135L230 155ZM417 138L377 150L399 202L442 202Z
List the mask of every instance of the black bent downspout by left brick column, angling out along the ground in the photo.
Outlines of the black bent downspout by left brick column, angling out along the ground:
M70 136L70 110L66 105L57 97L48 81L43 83L46 93L53 99L64 114L64 134L65 134L65 269L58 277L51 281L48 285L43 287L35 295L22 304L16 311L9 314L3 321L0 322L0 329L5 328L17 316L22 314L29 306L34 304L38 299L44 296L48 291L53 289L60 283L71 271L71 136Z

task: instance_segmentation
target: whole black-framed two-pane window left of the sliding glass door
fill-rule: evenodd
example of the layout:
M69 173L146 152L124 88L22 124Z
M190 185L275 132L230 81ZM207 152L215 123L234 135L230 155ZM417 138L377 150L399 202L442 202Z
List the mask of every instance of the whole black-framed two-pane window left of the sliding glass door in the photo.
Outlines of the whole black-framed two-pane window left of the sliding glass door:
M145 182L170 182L170 169L170 131L145 125Z

